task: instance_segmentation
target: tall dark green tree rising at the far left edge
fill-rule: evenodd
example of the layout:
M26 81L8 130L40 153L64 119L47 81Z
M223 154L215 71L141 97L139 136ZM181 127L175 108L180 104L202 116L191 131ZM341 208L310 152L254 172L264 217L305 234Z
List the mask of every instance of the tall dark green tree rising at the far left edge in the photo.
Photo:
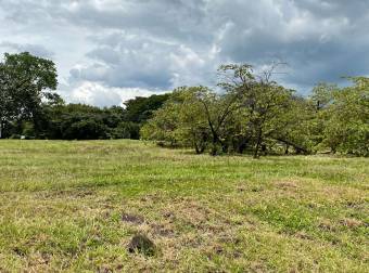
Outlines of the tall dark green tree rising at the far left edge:
M28 52L4 54L0 63L0 138L4 125L22 118L35 118L42 98L58 86L52 61Z

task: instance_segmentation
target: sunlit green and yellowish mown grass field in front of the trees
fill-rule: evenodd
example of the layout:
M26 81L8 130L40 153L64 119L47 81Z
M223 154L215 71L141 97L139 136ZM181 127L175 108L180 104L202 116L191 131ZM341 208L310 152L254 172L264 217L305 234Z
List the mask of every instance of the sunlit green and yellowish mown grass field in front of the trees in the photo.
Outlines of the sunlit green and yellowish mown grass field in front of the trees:
M0 272L368 272L369 160L0 141ZM130 253L135 234L154 256Z

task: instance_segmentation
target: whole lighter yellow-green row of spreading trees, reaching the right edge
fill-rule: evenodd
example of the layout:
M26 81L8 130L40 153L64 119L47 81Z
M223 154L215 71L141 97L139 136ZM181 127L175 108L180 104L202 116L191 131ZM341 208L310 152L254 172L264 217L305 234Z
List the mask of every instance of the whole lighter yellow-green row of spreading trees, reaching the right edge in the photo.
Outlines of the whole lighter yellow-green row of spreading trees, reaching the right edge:
M196 154L344 153L369 155L369 79L319 83L308 98L272 80L277 66L255 74L247 64L221 65L215 92L176 89L141 129L142 139L192 147Z

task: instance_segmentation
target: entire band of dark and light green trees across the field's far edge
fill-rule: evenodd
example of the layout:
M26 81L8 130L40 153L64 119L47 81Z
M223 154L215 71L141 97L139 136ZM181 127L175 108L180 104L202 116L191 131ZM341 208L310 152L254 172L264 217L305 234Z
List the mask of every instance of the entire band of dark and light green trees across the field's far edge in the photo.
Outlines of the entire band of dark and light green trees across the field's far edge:
M221 65L217 90L181 87L124 106L67 104L52 61L27 52L0 62L0 138L142 139L196 154L369 155L369 79L319 83L309 96L275 81L278 65L255 73Z

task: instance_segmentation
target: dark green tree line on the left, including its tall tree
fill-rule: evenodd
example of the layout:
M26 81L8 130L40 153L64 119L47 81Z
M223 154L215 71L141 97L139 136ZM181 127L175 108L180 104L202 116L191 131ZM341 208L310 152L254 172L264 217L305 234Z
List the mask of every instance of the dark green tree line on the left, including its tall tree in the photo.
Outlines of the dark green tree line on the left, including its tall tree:
M27 52L0 62L0 139L98 140L140 138L140 128L169 94L128 100L124 106L66 104L54 91L52 61Z

